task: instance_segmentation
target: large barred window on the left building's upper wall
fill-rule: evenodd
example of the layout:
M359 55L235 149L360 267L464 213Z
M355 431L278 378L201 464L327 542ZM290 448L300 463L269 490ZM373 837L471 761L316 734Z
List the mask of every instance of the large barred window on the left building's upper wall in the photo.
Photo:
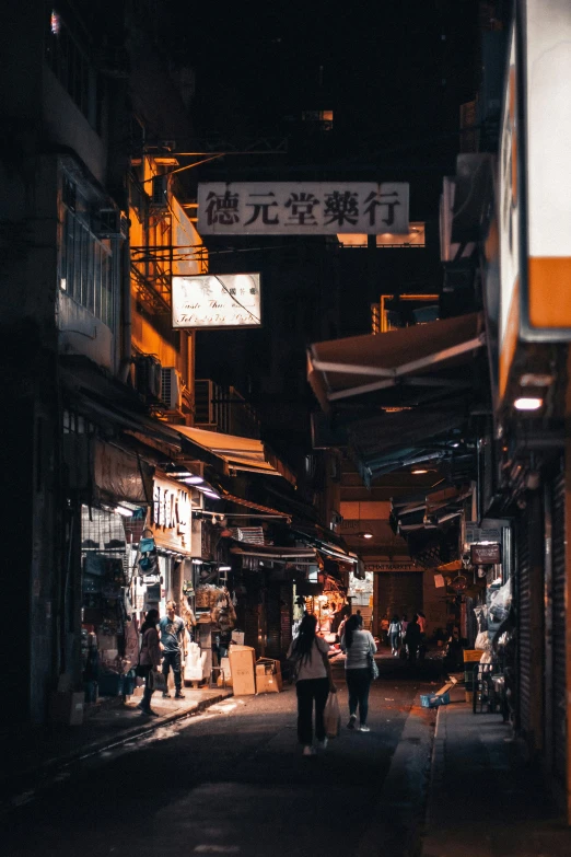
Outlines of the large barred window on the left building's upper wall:
M60 288L113 331L118 277L114 241L92 232L88 204L71 184L65 178Z

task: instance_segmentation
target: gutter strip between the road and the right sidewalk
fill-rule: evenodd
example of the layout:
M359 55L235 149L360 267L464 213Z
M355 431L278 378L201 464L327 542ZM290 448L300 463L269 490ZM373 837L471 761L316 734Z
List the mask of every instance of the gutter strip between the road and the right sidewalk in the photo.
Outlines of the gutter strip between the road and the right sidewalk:
M372 823L358 844L356 857L381 857L387 852L394 857L419 854L436 719L434 709L421 707L420 693L412 700Z

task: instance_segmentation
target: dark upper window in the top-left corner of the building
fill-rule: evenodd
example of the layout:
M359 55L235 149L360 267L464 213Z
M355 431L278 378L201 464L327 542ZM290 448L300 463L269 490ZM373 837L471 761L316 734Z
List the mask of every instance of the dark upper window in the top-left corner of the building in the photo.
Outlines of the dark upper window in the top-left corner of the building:
M86 48L56 9L48 18L46 62L90 125L98 129L97 72Z

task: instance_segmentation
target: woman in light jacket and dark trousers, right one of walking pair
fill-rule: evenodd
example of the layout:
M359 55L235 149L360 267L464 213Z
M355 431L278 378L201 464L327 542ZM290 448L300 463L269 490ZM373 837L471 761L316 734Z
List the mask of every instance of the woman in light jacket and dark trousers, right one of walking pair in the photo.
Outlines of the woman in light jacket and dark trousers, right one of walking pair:
M341 649L346 652L345 675L347 690L349 691L349 722L348 729L354 729L357 725L357 709L359 708L359 730L370 732L366 726L369 714L369 691L371 688L371 659L376 652L375 641L370 630L363 630L363 617L351 616L345 626Z

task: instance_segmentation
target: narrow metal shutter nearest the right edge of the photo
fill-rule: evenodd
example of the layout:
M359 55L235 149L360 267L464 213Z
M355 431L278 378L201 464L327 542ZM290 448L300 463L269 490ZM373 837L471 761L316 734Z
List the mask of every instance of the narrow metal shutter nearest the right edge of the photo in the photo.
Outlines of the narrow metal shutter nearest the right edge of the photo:
M553 696L552 758L553 774L567 777L567 700L566 700L566 486L564 475L555 477L551 486L552 513L552 616L553 616Z

